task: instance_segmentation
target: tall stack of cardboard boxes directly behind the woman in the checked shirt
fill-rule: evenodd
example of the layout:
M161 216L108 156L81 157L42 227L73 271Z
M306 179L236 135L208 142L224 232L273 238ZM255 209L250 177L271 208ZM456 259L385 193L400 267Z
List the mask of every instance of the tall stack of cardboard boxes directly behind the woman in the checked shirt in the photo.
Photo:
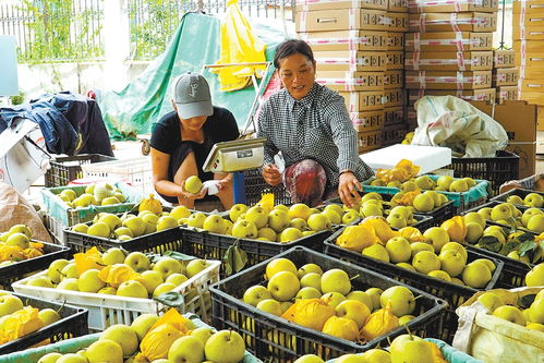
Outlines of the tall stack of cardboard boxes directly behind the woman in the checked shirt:
M344 97L360 152L406 133L406 0L298 1L297 32L312 46L316 81Z

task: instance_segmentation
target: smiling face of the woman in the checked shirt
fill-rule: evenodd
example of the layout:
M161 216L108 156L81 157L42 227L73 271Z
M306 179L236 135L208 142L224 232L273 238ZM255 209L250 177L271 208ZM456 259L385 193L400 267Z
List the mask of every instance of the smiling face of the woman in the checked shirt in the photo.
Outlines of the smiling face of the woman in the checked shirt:
M306 56L294 53L279 61L279 77L294 99L306 96L315 81L315 62Z

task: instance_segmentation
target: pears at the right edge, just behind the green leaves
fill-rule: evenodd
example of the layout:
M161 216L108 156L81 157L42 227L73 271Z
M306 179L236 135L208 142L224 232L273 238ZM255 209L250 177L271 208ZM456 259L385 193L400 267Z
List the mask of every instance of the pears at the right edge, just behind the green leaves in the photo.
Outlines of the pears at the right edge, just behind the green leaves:
M521 211L515 204L505 202L493 207L480 208L477 213L484 219L498 225L511 228L524 228L536 234L544 232L544 211L537 207L530 207Z

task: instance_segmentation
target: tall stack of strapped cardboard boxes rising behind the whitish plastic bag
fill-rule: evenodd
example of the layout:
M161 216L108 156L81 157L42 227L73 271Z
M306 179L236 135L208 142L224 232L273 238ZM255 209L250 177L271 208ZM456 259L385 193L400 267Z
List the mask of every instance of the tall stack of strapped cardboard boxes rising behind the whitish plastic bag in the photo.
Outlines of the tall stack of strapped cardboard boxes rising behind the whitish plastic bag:
M416 125L413 105L425 95L495 101L497 0L409 0L408 7L404 70L410 129Z

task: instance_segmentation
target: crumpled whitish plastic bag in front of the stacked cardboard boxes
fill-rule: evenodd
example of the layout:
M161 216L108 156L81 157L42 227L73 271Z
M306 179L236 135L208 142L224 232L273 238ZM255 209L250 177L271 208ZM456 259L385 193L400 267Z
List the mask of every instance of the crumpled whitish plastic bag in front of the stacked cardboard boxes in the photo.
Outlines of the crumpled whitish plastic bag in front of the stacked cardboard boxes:
M444 146L457 157L494 157L508 135L497 121L454 96L424 96L415 105L418 129L412 145Z

